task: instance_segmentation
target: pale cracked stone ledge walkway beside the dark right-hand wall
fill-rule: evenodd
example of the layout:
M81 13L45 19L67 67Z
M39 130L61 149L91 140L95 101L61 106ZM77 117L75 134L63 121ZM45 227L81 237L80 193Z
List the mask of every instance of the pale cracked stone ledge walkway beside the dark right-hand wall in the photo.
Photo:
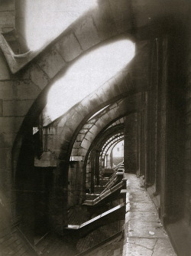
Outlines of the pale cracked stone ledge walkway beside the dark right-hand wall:
M176 256L170 239L160 224L157 210L140 179L126 174L127 213L123 256Z

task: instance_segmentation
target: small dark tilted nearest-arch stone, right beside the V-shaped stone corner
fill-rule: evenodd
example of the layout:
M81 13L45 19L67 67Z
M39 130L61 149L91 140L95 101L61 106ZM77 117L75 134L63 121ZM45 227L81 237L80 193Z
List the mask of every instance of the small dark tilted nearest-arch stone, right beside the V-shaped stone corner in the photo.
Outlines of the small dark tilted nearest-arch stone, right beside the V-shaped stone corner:
M44 73L38 66L32 66L29 69L30 79L31 81L36 84L40 90L43 90L44 87L47 86L49 82L49 78L47 77L47 74Z

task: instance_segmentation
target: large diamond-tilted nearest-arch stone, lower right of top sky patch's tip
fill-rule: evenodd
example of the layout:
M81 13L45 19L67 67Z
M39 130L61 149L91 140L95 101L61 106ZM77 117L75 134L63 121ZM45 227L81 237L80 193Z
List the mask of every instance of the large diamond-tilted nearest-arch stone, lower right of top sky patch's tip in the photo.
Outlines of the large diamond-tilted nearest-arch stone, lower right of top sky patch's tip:
M53 78L63 67L66 67L63 57L53 48L41 56L37 64L49 78Z

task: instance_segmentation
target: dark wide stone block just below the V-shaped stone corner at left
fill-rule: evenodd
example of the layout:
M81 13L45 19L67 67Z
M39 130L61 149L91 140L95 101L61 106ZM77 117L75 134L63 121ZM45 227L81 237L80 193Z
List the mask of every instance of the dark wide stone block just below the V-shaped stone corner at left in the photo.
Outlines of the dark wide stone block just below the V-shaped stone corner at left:
M17 90L18 100L36 99L41 91L36 84L33 84L28 80L18 81L15 89Z

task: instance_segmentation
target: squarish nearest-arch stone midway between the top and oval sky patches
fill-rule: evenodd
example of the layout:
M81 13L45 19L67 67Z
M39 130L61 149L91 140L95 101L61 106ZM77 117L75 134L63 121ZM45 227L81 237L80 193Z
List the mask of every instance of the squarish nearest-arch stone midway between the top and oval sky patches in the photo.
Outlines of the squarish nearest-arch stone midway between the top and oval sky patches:
M60 38L56 48L65 61L73 61L83 52L73 32Z

